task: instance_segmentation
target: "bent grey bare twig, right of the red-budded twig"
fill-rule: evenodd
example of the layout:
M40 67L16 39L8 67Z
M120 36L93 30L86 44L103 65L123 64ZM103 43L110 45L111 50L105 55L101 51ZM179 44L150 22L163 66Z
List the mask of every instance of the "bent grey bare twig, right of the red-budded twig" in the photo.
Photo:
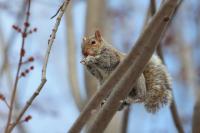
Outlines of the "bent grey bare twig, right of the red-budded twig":
M36 91L34 92L34 94L26 102L26 105L22 108L22 111L19 113L18 117L16 118L16 121L9 128L8 133L10 133L13 130L13 128L20 122L20 120L23 117L24 113L31 106L31 104L34 101L34 99L39 95L40 91L42 90L44 84L47 81L47 79L46 79L46 69L47 69L47 64L48 64L48 60L49 60L49 55L50 55L50 52L51 52L51 48L52 48L53 42L54 42L55 37L56 37L58 26L60 25L60 21L62 19L64 11L66 10L67 5L69 4L69 2L70 2L70 0L65 0L64 1L63 6L62 6L62 8L61 8L61 10L60 10L60 12L58 14L57 19L56 19L56 23L55 23L55 25L54 25L54 27L52 29L52 33L51 33L50 39L48 41L48 48L47 48L46 54L45 54L44 64L43 64L43 67L42 67L41 83L39 84L39 86L36 89Z

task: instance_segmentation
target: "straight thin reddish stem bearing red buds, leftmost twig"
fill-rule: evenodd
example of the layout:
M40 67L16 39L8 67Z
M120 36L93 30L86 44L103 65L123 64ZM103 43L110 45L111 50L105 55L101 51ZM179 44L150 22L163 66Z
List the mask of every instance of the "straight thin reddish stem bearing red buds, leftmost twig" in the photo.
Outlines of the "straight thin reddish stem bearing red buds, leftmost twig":
M27 8L27 13L26 13L26 18L25 18L25 22L27 22L27 23L29 22L29 16L30 16L30 4L31 4L31 0L28 0L28 8ZM22 34L26 34L27 29L28 29L28 26L24 25ZM24 52L25 52L24 51L25 40L26 40L26 37L22 35L22 45L21 45L21 49L20 49L20 57L19 57L17 73L15 76L14 87L12 90L12 95L11 95L11 100L10 100L10 109L9 109L9 114L8 114L8 120L7 120L7 124L6 124L6 129L5 129L6 133L8 132L11 118L12 118L13 106L14 106L15 96L16 96L16 92L17 92L17 85L18 85L18 81L19 81L19 73L20 73L20 69L22 66L22 58L23 58Z

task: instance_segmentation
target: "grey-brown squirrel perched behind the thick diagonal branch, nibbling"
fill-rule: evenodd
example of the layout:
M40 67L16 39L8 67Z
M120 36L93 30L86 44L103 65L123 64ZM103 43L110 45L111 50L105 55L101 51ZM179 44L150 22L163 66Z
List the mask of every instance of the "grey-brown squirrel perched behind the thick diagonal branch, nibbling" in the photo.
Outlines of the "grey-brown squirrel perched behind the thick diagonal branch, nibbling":
M84 59L81 63L97 78L100 85L126 57L107 43L98 30L94 35L83 38L82 54ZM149 60L133 88L122 101L119 110L131 103L144 103L148 112L155 113L172 101L171 78L157 55Z

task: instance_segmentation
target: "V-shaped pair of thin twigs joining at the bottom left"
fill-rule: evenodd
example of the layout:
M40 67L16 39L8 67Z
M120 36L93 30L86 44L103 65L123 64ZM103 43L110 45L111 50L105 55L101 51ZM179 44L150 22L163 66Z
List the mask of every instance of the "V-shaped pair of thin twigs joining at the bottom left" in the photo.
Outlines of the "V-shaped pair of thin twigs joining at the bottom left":
M6 129L5 129L6 133L12 132L12 130L15 128L15 126L20 123L21 118L23 117L23 115L25 114L27 109L31 106L33 100L39 95L39 93L42 90L44 84L46 83L46 69L47 69L47 64L48 64L48 59L49 59L51 47L53 45L53 42L54 42L54 39L55 39L55 36L56 36L56 32L58 30L58 26L60 24L61 18L63 16L64 11L66 10L69 2L70 2L70 0L64 1L63 5L62 5L62 7L61 7L61 9L59 11L58 17L56 19L56 23L55 23L55 25L54 25L54 27L52 29L52 33L50 35L50 39L48 40L48 48L46 50L45 61L44 61L43 68L42 68L41 83L39 84L38 88L36 89L36 91L31 96L31 98L27 101L26 105L22 108L22 111L19 113L18 117L16 118L16 121L11 123L11 117L12 117L12 111L13 111L12 110L12 106L13 106L14 101L15 101L15 94L16 94L16 91L17 91L17 83L18 83L18 80L20 78L20 76L19 76L20 66L22 65L22 57L25 55L24 44L25 44L25 38L26 38L27 33L28 33L27 32L27 28L29 26L29 15L30 15L31 0L28 1L26 19L25 19L24 29L23 29L23 33L22 33L22 38L23 38L22 39L22 47L20 49L20 59L19 59L16 79L15 79L15 83L14 83L14 89L12 91L11 104L10 104L10 109L9 109L9 116L8 116L8 121L7 121ZM14 27L14 28L17 29L17 27ZM26 120L26 118L25 118L25 120Z

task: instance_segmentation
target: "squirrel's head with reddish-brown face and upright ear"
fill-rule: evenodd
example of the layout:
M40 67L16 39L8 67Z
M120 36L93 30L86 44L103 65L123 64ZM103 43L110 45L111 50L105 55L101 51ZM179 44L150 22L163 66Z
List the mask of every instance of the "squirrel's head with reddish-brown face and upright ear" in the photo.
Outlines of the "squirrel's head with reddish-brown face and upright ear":
M99 30L95 31L95 34L90 37L84 37L82 42L82 54L87 57L96 56L100 47L103 45L103 39Z

